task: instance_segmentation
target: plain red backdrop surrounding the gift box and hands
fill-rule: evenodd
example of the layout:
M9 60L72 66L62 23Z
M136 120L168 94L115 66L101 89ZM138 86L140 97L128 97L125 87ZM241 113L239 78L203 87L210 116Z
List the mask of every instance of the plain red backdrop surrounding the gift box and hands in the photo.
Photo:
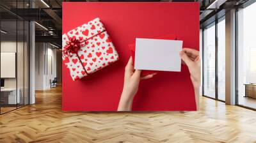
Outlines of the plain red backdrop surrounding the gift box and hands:
M99 17L120 56L116 63L73 82L63 64L63 110L116 110L124 67L135 38L177 35L199 50L199 3L63 3L63 33ZM154 58L154 57L153 57ZM132 110L196 110L188 68L141 80Z

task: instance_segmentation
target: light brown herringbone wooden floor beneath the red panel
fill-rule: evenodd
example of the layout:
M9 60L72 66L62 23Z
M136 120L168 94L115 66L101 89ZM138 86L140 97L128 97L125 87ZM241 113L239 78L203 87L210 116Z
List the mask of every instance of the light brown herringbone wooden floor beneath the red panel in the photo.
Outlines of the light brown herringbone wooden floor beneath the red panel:
M0 116L0 142L256 142L256 112L200 98L198 112L62 112L61 88Z

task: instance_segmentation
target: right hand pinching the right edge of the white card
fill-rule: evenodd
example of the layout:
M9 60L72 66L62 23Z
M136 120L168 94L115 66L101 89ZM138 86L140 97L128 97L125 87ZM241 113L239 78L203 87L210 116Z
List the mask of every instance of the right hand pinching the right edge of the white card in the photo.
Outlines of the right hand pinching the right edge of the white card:
M196 109L199 109L199 88L201 84L201 61L199 51L184 48L180 52L180 57L182 63L188 66L190 78L195 89Z

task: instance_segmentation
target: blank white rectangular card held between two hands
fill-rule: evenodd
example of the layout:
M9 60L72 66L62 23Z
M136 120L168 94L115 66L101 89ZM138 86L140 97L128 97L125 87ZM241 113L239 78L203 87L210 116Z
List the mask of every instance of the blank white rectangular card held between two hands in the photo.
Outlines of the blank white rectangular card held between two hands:
M134 68L180 72L182 41L136 38Z

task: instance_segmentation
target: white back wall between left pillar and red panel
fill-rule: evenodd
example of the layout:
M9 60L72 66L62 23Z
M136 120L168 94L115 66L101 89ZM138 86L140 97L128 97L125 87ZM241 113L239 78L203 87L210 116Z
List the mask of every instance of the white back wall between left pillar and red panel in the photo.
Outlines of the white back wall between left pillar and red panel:
M56 77L56 49L48 43L36 43L35 47L35 89L49 89L50 80Z

